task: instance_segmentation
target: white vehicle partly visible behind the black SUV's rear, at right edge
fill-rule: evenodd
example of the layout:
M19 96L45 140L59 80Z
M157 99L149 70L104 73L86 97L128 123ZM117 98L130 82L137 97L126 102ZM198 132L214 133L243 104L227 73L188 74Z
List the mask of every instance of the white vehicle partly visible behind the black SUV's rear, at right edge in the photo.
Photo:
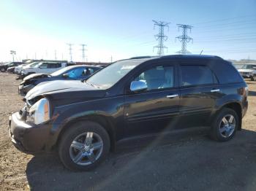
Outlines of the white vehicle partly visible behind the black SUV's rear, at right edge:
M256 63L234 64L242 77L256 80Z

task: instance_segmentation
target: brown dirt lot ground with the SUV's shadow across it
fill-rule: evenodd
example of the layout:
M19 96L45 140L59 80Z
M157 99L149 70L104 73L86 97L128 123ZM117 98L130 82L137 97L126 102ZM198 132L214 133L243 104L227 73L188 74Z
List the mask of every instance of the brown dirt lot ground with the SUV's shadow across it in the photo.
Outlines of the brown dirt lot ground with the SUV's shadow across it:
M0 190L256 190L256 82L247 82L249 111L232 141L154 141L119 149L83 173L65 169L57 155L34 157L12 146L8 116L23 106L18 83L0 73Z

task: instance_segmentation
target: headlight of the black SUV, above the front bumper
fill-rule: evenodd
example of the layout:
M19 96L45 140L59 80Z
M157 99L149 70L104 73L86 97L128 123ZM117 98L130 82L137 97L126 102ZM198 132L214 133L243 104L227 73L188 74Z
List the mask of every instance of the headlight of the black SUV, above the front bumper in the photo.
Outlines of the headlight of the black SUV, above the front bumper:
M47 98L42 98L29 109L27 122L33 122L38 125L48 120L50 120L50 104Z

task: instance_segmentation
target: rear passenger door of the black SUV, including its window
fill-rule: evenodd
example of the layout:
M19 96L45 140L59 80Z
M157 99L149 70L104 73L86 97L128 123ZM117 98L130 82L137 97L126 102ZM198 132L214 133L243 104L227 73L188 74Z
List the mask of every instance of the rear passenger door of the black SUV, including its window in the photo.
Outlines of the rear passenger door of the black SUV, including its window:
M206 64L181 63L181 128L208 125L219 95L219 84Z

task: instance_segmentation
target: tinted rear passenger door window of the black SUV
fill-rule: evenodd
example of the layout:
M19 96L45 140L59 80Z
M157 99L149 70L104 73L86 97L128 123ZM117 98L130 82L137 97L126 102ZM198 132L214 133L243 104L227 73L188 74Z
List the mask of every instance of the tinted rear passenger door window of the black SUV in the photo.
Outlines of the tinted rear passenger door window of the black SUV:
M208 66L181 66L182 85L208 85L214 77Z

